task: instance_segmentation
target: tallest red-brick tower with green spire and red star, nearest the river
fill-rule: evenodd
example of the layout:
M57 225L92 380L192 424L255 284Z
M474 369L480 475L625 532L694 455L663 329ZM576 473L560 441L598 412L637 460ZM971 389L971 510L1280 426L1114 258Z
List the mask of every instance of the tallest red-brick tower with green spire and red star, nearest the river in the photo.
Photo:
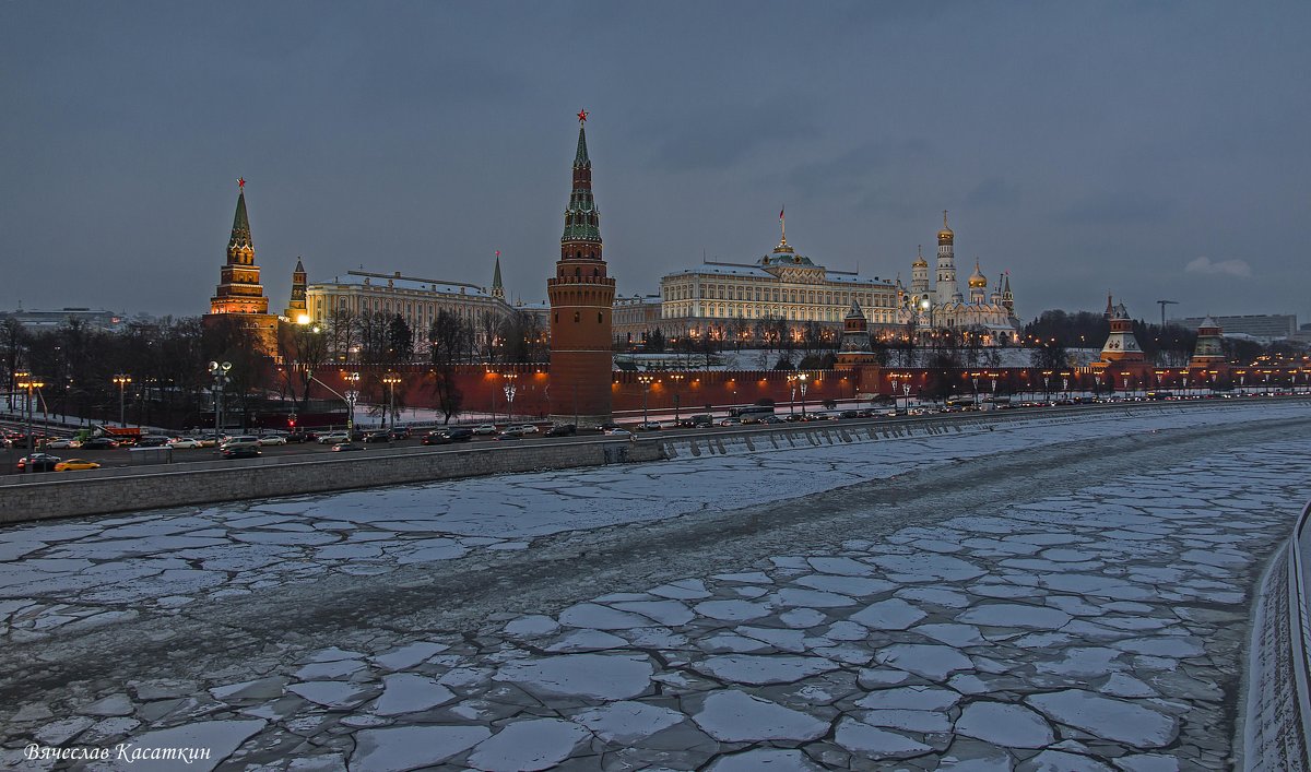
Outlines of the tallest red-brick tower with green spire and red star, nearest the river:
M565 210L556 273L547 279L551 299L551 418L597 426L611 419L611 309L615 279L606 275L600 220L591 195L587 111L578 113L573 190Z

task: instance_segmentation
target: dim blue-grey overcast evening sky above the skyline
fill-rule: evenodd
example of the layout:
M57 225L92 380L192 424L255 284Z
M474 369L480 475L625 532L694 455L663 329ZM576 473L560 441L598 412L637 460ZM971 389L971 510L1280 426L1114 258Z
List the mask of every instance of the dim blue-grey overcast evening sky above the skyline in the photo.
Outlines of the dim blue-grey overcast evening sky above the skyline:
M363 265L543 300L591 111L624 295L779 239L1019 315L1311 321L1311 3L0 4L0 309L194 315L245 176L271 308Z

